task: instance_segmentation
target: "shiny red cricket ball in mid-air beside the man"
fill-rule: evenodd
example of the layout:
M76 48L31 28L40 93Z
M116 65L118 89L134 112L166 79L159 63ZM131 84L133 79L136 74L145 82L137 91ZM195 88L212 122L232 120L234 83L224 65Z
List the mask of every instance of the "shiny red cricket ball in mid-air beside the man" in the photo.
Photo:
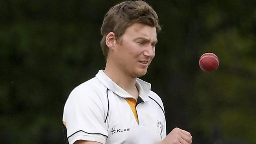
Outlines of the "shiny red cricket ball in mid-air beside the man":
M213 72L219 67L219 59L211 52L205 53L199 59L199 66L205 72Z

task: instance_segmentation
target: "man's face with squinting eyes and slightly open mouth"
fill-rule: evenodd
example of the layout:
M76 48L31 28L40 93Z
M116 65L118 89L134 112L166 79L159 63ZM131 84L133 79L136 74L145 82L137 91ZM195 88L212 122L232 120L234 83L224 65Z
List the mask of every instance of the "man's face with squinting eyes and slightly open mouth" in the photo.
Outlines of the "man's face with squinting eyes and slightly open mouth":
M155 56L156 27L134 23L117 41L115 58L119 70L132 78L143 76Z

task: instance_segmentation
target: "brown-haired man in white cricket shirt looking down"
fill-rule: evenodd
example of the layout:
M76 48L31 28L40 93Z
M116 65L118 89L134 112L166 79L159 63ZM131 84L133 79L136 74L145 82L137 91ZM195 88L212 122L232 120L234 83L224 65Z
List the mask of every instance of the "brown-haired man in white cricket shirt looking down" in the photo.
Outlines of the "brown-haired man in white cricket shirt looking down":
M63 125L69 144L191 144L189 132L166 136L160 97L147 73L155 56L156 12L146 2L122 2L109 9L101 34L105 70L82 83L65 103Z

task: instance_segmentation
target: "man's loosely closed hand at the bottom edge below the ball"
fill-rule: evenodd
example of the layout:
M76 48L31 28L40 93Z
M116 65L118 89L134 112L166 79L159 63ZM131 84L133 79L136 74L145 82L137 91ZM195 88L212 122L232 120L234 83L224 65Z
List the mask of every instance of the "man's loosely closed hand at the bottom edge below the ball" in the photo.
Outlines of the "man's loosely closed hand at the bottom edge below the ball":
M175 127L159 144L192 144L189 132Z

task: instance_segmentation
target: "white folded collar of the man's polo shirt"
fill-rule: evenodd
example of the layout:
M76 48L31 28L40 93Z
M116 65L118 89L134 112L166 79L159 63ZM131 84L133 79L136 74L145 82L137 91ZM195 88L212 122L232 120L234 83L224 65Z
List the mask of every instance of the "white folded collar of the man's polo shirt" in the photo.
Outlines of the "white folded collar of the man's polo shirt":
M119 85L117 85L112 79L108 77L108 75L104 72L104 70L99 70L98 74L95 76L105 87L109 90L117 94L122 98L134 98L124 89L122 89ZM139 96L143 99L143 101L148 101L149 92L151 88L151 84L143 81L139 78L136 79L136 87L139 90Z

